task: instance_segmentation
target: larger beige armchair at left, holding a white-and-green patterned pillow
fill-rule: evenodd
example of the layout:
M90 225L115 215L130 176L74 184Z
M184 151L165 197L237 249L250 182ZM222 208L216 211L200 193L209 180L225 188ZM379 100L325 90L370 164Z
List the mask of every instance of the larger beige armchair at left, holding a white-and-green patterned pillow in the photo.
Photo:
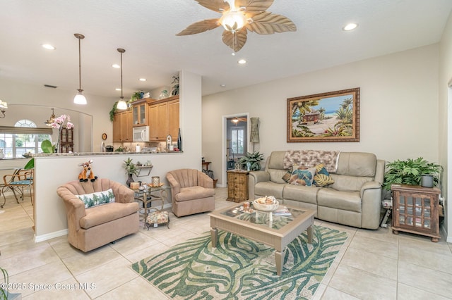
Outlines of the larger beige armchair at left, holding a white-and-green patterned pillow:
M83 195L109 189L114 194L114 202L89 208L85 208L85 202L76 196L84 198ZM134 200L133 191L119 182L105 178L95 182L75 180L58 187L57 194L66 206L69 243L81 251L88 252L138 232L138 203ZM104 200L97 197L96 201Z

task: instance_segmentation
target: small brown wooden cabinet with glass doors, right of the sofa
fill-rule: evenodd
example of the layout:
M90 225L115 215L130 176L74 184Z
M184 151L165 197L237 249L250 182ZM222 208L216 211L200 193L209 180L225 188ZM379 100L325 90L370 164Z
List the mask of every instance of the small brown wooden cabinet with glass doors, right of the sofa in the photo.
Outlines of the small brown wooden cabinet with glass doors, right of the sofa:
M399 231L425 235L438 242L439 194L436 187L417 185L392 185L393 233Z

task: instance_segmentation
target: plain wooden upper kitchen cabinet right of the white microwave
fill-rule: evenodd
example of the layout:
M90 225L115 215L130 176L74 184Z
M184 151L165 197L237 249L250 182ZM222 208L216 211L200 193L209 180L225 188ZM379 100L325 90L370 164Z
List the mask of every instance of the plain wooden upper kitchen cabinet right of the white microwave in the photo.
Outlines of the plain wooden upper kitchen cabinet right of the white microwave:
M150 141L166 141L167 135L176 141L179 131L179 96L150 101L148 119Z

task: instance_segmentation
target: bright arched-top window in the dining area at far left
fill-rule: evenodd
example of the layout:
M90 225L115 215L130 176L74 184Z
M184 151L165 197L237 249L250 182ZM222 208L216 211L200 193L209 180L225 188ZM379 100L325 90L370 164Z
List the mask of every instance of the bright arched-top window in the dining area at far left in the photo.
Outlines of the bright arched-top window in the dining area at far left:
M22 158L26 152L40 153L45 139L52 142L51 128L37 128L30 120L18 120L14 127L0 127L0 148L5 158Z

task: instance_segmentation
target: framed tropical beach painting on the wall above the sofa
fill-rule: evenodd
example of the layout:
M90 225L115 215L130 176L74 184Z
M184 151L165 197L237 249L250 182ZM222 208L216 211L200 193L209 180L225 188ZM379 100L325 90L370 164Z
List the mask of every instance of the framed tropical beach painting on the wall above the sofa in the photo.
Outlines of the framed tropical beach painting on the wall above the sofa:
M359 87L287 99L287 142L359 142Z

